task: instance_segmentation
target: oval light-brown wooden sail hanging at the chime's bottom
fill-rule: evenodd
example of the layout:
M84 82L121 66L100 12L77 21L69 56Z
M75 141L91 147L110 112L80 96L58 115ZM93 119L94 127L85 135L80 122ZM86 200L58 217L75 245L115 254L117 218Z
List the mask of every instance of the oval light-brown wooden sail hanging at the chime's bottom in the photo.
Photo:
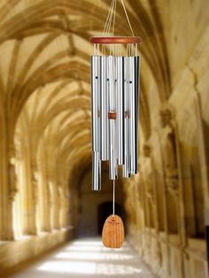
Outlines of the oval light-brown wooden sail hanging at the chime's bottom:
M112 214L104 222L103 244L107 248L120 248L124 242L125 232L120 216Z

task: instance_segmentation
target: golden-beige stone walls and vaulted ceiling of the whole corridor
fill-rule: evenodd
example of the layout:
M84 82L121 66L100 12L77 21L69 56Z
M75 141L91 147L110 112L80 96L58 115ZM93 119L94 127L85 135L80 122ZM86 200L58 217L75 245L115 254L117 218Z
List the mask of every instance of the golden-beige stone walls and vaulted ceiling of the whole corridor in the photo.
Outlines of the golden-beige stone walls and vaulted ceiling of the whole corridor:
M118 2L115 32L129 35ZM98 207L112 200L105 166L104 191L90 189L89 36L110 3L0 0L2 269L34 257L36 242L36 255L50 249L43 233L59 231L53 246L69 227L96 236ZM143 38L139 174L117 184L127 239L159 277L207 278L209 4L125 3Z

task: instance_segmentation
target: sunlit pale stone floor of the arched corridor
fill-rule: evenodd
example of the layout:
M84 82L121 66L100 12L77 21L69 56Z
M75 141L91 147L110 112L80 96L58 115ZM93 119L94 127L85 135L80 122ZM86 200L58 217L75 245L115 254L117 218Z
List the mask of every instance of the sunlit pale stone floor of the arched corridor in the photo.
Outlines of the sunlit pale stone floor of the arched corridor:
M100 238L76 240L29 266L13 278L154 278L136 252L125 243L119 250L104 248Z

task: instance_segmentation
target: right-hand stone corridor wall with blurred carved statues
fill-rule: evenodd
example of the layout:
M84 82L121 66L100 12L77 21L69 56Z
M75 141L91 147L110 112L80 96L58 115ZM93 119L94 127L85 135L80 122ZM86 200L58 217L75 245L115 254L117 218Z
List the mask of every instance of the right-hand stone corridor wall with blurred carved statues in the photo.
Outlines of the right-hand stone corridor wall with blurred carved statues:
M160 277L205 278L208 4L175 1L165 9L172 90L166 101L149 105L151 135L141 146L140 174L127 189L127 209L135 214L128 221L128 238ZM130 208L135 190L138 211ZM140 230L136 220L142 223Z

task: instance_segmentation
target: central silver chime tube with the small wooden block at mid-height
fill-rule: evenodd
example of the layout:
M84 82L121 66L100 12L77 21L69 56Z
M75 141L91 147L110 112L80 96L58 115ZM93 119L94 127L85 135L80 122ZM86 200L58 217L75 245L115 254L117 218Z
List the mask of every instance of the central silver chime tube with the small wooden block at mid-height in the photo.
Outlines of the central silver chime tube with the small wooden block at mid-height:
M112 56L108 57L107 80L109 85L109 114L116 113L116 88L115 88L115 60ZM117 116L117 115L116 115ZM115 180L117 175L116 158L116 120L109 117L109 178Z

